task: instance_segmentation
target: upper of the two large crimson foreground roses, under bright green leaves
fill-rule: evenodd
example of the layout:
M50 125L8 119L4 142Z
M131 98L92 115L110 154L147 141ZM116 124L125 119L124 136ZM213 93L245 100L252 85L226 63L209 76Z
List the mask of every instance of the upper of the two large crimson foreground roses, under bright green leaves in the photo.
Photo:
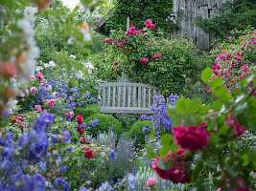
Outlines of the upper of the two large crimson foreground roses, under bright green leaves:
M175 143L183 149L190 151L202 150L207 146L210 133L205 131L206 123L201 126L195 125L191 127L173 127L175 135Z

